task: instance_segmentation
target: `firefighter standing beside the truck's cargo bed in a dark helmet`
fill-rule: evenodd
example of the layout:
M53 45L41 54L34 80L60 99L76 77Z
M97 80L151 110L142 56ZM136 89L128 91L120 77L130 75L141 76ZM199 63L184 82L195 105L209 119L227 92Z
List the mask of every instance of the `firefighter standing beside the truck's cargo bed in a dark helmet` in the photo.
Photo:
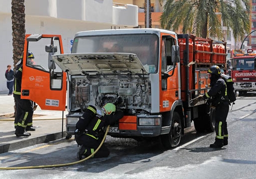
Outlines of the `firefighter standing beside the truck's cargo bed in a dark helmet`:
M227 115L229 111L229 100L227 96L227 87L224 79L221 78L219 66L213 65L208 69L210 78L210 90L204 95L199 96L202 99L210 99L211 106L215 108L215 142L210 145L212 148L221 148L228 144Z

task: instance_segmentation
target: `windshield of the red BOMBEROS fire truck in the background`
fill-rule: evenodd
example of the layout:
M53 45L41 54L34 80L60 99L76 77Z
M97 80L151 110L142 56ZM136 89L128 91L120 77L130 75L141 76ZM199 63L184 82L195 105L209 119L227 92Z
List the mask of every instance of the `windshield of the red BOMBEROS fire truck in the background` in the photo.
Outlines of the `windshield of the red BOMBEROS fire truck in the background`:
M233 59L233 70L254 69L254 58Z

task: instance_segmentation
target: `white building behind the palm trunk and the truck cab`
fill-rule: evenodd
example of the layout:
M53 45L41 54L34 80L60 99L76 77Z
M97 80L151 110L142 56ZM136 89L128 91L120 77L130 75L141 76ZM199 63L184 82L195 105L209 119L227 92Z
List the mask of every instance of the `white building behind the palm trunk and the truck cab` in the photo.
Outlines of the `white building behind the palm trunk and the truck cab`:
M0 94L7 94L5 71L13 66L11 0L0 0ZM69 53L76 32L138 26L138 7L112 0L26 0L26 34L60 34Z

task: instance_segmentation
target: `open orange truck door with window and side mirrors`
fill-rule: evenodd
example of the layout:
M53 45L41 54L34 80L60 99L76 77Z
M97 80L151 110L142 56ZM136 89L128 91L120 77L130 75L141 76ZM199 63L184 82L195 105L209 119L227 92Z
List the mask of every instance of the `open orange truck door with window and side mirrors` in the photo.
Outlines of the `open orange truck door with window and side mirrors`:
M33 53L34 59L28 58L28 51ZM51 55L62 53L60 35L26 35L22 99L34 101L42 110L65 111L66 73L55 65L51 58Z

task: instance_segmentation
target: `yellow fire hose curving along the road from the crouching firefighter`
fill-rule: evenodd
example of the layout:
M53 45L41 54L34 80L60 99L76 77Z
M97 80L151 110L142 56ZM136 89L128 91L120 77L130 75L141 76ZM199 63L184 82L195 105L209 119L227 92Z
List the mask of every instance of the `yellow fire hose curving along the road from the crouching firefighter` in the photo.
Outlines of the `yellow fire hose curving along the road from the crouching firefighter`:
M101 141L101 144L99 145L99 147L95 150L94 153L92 153L90 156L82 159L82 160L79 160L79 161L75 161L75 162L71 162L71 163L62 163L62 164L54 164L54 165L38 165L38 166L20 166L20 167L0 167L0 169L5 169L5 170L8 170L8 169L32 169L32 168L49 168L49 167L58 167L58 166L67 166L67 165L73 165L73 164L77 164L77 163L80 163L80 162L83 162L83 161L86 161L88 160L89 158L91 158L93 155L95 155L98 150L100 150L102 144L104 143L105 139L106 139L106 136L108 134L108 131L109 131L109 125L108 125L108 128L106 129L106 132L105 132L105 135Z

